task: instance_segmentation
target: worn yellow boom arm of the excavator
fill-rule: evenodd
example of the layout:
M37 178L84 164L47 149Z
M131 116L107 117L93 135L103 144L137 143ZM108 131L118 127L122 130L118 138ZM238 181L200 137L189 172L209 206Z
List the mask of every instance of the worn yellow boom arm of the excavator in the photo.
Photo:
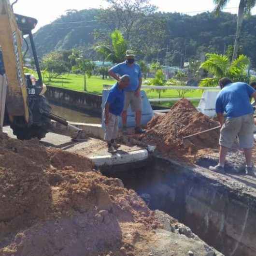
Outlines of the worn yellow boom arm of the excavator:
M9 0L0 0L0 46L8 81L7 110L10 119L24 116L28 122L28 92L23 72L22 37Z

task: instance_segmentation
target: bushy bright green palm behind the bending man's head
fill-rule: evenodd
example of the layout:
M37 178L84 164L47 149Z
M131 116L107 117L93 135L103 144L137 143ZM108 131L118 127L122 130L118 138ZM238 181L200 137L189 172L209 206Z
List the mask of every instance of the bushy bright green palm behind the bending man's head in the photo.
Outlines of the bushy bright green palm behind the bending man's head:
M213 77L202 79L199 86L217 86L222 77L229 77L232 81L248 82L246 68L250 60L247 56L240 55L232 62L226 55L207 54L206 57L207 60L201 64L200 69L208 71Z

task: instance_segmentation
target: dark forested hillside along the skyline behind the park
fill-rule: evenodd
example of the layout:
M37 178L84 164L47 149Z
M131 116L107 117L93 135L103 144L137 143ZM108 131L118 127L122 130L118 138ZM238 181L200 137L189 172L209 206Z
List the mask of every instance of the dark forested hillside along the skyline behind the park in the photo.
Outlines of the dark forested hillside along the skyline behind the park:
M71 10L52 24L39 29L35 34L39 56L54 50L82 47L90 52L90 57L97 58L88 49L111 31L110 26L98 21L100 12L96 9L79 12ZM229 13L221 13L219 17L209 12L195 16L178 13L150 14L146 22L143 20L136 23L138 28L131 34L129 44L140 53L140 57L148 61L156 59L158 52L159 59L163 62L166 50L159 49L166 49L168 45L168 64L179 65L181 55L186 54L188 60L190 57L199 58L201 52L223 53L228 45L234 43L236 21L237 16ZM114 28L116 24L113 24ZM254 66L255 31L256 15L244 20L241 37L243 53L251 57ZM98 39L95 39L95 34Z

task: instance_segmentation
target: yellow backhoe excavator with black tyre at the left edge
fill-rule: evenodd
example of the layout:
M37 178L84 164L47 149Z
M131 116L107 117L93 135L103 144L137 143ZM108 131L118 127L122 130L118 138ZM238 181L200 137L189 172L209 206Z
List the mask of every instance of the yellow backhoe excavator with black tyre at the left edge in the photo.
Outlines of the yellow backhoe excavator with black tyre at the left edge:
M14 14L9 0L0 0L0 126L10 125L20 140L42 139L51 130L51 119L71 127L76 132L73 139L83 140L83 130L51 113L51 107L43 96L46 86L33 40L35 18ZM24 74L23 58L28 52L29 39L38 79ZM27 49L22 55L22 42Z

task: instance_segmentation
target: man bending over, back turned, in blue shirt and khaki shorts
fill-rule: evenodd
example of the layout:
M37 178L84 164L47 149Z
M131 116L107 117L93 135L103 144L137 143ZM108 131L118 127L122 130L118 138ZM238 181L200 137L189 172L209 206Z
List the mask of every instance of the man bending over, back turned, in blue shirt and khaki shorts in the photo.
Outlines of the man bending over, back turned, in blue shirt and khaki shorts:
M240 147L244 151L246 167L245 173L254 175L252 162L252 149L254 147L254 109L251 98L256 98L255 89L242 82L232 83L228 78L219 81L221 91L216 100L216 113L220 130L220 155L219 163L210 166L210 170L225 172L224 165L228 149L231 148L236 138L239 138ZM227 119L224 121L224 112Z

